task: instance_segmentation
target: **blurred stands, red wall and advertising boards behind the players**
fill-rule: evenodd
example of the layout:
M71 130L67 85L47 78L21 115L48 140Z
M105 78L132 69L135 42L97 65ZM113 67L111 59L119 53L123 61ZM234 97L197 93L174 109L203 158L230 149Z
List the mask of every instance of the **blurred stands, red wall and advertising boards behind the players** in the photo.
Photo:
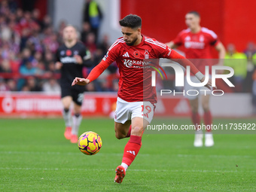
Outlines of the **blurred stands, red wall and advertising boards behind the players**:
M223 82L219 82L218 87L224 90L225 94L221 97L212 97L212 114L215 117L254 115L254 0L247 0L246 3L239 0L95 2L100 23L94 28L90 26L90 20L86 17L88 10L85 0L75 0L75 3L69 0L0 2L1 117L55 117L61 114L59 72L54 69L54 62L56 49L62 43L62 29L67 24L78 28L81 41L90 49L96 66L108 47L121 36L118 20L126 14L138 14L142 17L143 34L167 42L175 38L181 29L186 28L184 14L190 10L200 12L202 26L216 32L227 50L236 50L231 59L227 59L229 62L224 62L235 70L231 81L236 87L230 89ZM84 77L91 69L84 69ZM117 66L113 63L99 79L87 86L83 115L110 115L115 107L117 82ZM173 78L163 81L164 84L173 84ZM172 104L169 108L164 108L167 104L166 99L159 100L162 108L157 110L156 115L189 115L187 100L182 97L171 99Z

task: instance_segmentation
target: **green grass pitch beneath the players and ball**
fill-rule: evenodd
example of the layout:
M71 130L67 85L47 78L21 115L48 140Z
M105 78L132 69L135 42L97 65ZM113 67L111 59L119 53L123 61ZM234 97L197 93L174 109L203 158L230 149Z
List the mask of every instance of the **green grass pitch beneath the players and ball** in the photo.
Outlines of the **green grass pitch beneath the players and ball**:
M215 122L255 123L253 119ZM189 119L172 119L172 123ZM87 156L63 136L62 119L0 119L0 191L255 191L256 134L215 135L194 148L191 134L145 134L122 184L114 183L128 139L115 139L114 120L84 119L102 149Z

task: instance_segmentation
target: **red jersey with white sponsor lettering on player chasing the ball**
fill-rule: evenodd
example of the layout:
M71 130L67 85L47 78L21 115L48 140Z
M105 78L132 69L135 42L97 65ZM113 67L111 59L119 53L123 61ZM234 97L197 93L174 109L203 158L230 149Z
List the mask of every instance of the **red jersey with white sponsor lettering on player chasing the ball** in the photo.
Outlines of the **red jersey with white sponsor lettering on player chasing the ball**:
M119 90L117 96L126 102L157 102L155 87L151 87L151 59L159 65L159 58L171 59L172 50L155 39L143 36L142 42L129 46L118 38L108 49L103 60L110 65L116 61L119 68Z

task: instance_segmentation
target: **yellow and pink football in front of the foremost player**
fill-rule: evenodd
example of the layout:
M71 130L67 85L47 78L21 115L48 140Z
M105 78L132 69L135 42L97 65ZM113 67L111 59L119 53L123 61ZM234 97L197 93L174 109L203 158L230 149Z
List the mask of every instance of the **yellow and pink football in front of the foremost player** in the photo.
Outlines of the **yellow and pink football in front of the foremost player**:
M87 131L79 137L78 148L83 154L96 154L102 148L102 139L97 133Z

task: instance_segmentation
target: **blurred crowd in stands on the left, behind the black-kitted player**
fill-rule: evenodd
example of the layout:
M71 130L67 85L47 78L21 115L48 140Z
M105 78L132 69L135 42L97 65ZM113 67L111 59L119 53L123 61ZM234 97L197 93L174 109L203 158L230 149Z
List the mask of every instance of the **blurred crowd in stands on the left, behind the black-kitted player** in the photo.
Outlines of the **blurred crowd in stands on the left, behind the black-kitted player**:
M99 12L99 7L96 8ZM99 25L92 26L87 12L88 9L85 8L84 23L78 33L80 40L90 50L94 66L96 66L108 50L108 35L97 38ZM100 20L102 14L99 13ZM15 0L0 2L1 92L45 91L59 93L60 74L55 70L55 53L59 44L62 44L62 29L69 23L62 20L58 29L54 30L52 19L48 15L45 15L42 20L39 18L40 11L38 9L23 11ZM99 21L97 22L99 23ZM91 69L84 69L84 77ZM117 91L117 82L117 66L113 63L101 78L87 86L87 90Z

